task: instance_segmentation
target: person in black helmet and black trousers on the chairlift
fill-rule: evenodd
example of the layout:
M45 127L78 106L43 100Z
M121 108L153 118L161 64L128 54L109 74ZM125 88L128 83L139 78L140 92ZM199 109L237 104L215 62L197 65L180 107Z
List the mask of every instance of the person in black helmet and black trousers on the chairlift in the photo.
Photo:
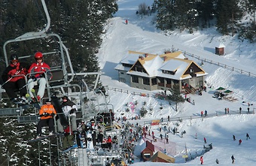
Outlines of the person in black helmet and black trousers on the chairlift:
M26 96L26 74L28 66L19 62L19 58L16 54L11 55L11 63L5 68L5 71L2 74L2 80L4 83L2 86L5 89L5 92L11 99L11 101L18 102L20 101L17 98L17 93L20 92L20 97L25 100Z

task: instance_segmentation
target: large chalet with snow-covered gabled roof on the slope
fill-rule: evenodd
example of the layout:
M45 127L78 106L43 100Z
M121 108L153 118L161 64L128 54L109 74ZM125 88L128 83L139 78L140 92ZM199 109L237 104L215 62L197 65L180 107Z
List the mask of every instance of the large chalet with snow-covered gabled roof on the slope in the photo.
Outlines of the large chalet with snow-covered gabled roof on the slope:
M187 93L204 86L207 75L181 51L162 55L130 51L115 69L119 81L132 87L146 90L178 87L181 92Z

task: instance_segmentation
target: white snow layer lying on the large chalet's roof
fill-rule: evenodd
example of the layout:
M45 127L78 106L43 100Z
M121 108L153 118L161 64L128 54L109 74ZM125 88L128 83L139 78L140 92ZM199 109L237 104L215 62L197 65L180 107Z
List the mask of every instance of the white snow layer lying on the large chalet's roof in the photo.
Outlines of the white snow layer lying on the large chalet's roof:
M140 59L142 56L143 59ZM166 77L175 80L184 80L190 78L190 74L183 75L184 71L191 64L191 60L184 59L184 55L181 51L175 53L166 53L160 56L154 54L148 54L145 57L145 53L131 52L120 63L134 65L139 61L147 73L139 71L130 71L129 67L123 67L119 64L115 67L116 70L127 71L126 74L133 74L141 77ZM162 71L173 71L175 74L164 74ZM200 75L207 75L207 73L200 73Z

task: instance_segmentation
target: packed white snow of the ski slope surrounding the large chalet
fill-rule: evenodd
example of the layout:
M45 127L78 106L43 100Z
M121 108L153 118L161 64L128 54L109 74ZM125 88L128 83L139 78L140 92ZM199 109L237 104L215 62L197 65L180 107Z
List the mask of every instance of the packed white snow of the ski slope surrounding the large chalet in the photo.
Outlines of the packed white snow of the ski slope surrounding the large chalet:
M167 155L175 157L175 164L172 165L198 165L200 156L203 152L203 145L208 146L212 143L213 149L203 154L206 165L215 165L216 158L220 165L231 164L231 155L236 158L235 164L254 165L256 159L256 126L255 114L255 95L256 78L241 74L235 71L221 68L208 62L201 66L209 75L206 77L206 92L203 95L187 95L190 101L178 104L178 111L175 111L175 104L169 104L154 98L159 91L145 91L134 89L130 86L118 82L117 71L114 68L120 60L127 56L128 50L163 54L165 50L182 50L184 52L200 56L203 59L209 59L213 62L220 62L238 68L242 71L248 71L256 74L256 44L250 44L248 41L240 41L237 36L222 36L216 29L204 29L195 31L193 34L187 32L160 32L154 27L154 14L151 16L140 16L136 14L139 5L143 2L151 6L154 0L119 0L119 11L113 18L108 20L105 26L105 34L102 35L102 46L99 50L99 65L105 73L101 77L102 84L108 86L108 100L114 105L116 118L126 116L129 122L139 125L149 125L153 119L163 118L162 125L150 126L155 136L159 138L160 127L177 127L179 133L169 133L169 144L164 141L153 142L161 152L166 151ZM128 24L125 24L128 20ZM215 55L215 47L224 44L224 56ZM201 60L187 56L200 65ZM218 100L212 98L215 89L224 87L233 91L230 95L236 101ZM122 92L120 92L122 89ZM146 94L145 96L139 94ZM248 113L248 104L250 113ZM145 107L148 113L145 117L138 120L132 120L139 116L139 110ZM224 108L229 108L229 114L224 113ZM241 114L239 107L242 108ZM200 117L201 111L208 111L208 117ZM166 122L167 116L176 121ZM181 137L181 131L186 131ZM248 133L251 139L246 140L245 134ZM236 140L233 140L233 135ZM207 143L204 143L203 137L206 137ZM238 140L242 139L241 145ZM152 140L151 136L145 140ZM143 145L143 141L139 143ZM145 144L145 143L144 143ZM136 155L143 148L136 148ZM186 152L187 151L187 152ZM182 155L188 155L188 158L194 158L185 162ZM162 164L162 163L161 163ZM164 164L164 163L163 163ZM145 163L136 161L134 165L159 165L159 163Z

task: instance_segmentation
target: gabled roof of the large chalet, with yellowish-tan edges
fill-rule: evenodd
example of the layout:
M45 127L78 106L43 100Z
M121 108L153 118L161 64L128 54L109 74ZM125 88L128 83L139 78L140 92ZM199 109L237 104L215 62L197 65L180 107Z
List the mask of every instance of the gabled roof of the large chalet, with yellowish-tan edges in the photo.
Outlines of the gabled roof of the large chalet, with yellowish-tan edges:
M130 53L133 52L130 51ZM134 57L134 55L137 56L136 62L134 62L134 60L128 60L132 59L132 56ZM139 58L139 56L141 58ZM132 67L128 70L126 68L126 74L140 77L166 77L174 80L184 80L192 77L190 72L188 72L191 67L195 69L194 71L197 76L207 75L207 73L203 71L203 69L200 68L200 66L195 62L184 59L184 55L181 51L175 53L166 53L160 56L154 54L147 54L147 56L145 56L145 53L140 54L136 52L136 54L126 56L125 60L123 59L120 63L125 62L134 62L133 66L136 65L136 63L137 65L139 63L145 72L134 71ZM117 67L115 69L120 70L120 68L118 69ZM123 69L125 68L123 67ZM163 71L172 71L174 74L167 74Z

